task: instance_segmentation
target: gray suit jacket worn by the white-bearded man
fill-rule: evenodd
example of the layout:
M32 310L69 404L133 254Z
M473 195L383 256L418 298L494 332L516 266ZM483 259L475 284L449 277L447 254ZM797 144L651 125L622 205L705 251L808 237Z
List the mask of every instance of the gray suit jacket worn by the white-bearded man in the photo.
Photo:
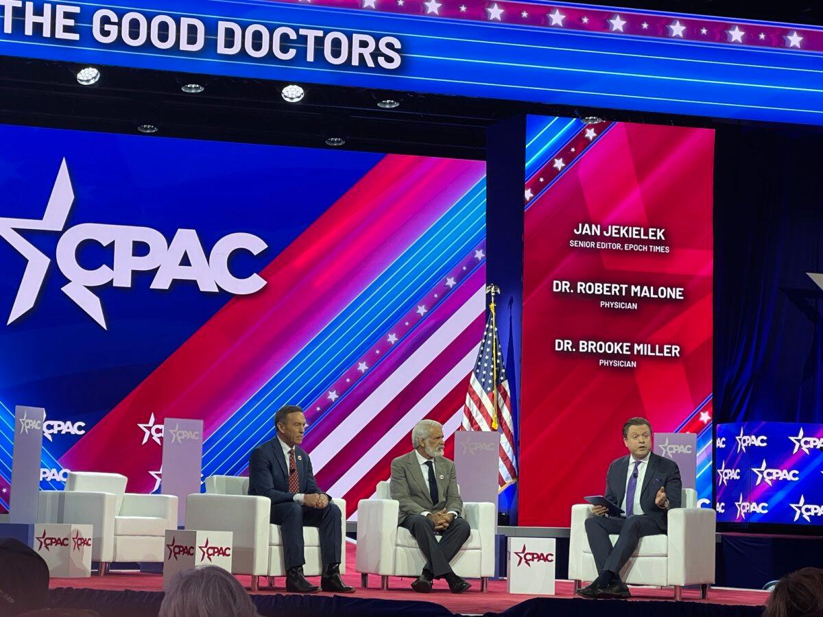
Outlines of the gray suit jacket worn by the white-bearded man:
M463 513L463 499L460 499L458 492L458 475L454 471L454 463L448 458L435 457L435 479L439 501L431 503L429 485L423 479L416 453L412 451L392 461L389 488L392 499L400 502L398 525L410 514L439 512L443 509L456 512L458 516Z

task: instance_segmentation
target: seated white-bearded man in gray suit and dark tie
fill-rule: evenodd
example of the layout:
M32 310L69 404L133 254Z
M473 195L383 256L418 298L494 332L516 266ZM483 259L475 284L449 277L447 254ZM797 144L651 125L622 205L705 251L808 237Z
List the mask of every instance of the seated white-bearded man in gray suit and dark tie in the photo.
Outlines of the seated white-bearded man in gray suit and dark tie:
M392 499L400 502L399 527L412 533L425 556L423 572L412 582L418 593L431 591L435 578L445 578L452 593L472 585L453 573L449 562L472 530L464 518L454 463L443 457L443 425L421 420L412 431L414 450L392 461ZM435 534L442 536L437 541Z

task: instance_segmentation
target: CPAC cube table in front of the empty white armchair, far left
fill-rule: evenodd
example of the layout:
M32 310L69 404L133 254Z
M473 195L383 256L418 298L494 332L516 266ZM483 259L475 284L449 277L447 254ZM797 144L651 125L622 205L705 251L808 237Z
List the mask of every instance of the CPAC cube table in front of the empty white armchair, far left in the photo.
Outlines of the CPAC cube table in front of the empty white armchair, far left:
M91 576L91 525L37 523L32 548L49 566L54 578Z

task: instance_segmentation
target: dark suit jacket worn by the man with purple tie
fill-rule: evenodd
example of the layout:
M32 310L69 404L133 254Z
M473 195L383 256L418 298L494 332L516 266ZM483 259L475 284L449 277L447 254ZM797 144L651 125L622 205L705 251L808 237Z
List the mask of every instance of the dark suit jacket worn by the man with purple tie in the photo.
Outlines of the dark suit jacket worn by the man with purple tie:
M611 462L606 475L606 493L604 497L620 506L625 497L626 476L629 474L630 455L620 457ZM654 497L661 486L666 487L666 497L669 500L669 509L680 508L683 485L680 480L680 469L677 463L669 458L663 458L652 452L649 466L640 488L640 508L643 513L652 517L662 531L667 530L667 510L658 508Z

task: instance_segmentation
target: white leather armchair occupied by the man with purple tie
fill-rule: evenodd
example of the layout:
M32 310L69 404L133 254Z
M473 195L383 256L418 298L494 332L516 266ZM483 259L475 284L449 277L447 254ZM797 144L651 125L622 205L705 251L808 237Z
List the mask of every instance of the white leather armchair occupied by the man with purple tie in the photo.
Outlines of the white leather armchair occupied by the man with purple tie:
M597 578L592 550L588 545L585 522L592 517L591 506L577 504L571 509L569 578L578 589L582 582ZM681 599L682 587L700 585L705 597L714 583L715 519L717 514L697 506L695 489L683 489L682 508L668 513L668 535L640 538L635 553L621 571L629 585L674 587ZM617 536L611 536L614 545Z

